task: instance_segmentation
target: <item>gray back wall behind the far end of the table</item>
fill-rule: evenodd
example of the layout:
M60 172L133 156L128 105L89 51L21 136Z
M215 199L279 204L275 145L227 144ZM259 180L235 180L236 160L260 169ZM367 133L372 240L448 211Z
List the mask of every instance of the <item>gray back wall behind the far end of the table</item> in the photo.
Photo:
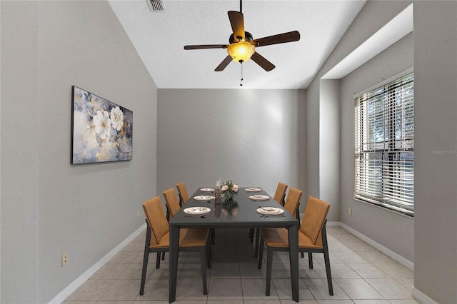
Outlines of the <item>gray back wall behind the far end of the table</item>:
M304 93L159 89L158 191L231 178L270 194L282 181L306 197Z

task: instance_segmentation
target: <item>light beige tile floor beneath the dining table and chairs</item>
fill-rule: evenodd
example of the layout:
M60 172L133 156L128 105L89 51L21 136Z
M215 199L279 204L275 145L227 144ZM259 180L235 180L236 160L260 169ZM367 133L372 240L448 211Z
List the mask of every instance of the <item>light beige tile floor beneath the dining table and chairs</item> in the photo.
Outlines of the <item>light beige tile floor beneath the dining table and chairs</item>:
M328 231L334 295L328 295L322 254L299 258L300 303L306 304L413 304L413 272L396 263L342 228ZM74 291L65 304L165 304L169 295L168 254L155 268L151 253L144 295L139 295L146 233L141 233L99 271ZM198 253L180 253L175 303L292 304L287 253L273 256L271 295L265 296L265 265L257 269L247 229L216 230L214 260L208 270L209 293L201 286ZM263 255L266 259L266 254ZM265 263L265 261L264 261Z

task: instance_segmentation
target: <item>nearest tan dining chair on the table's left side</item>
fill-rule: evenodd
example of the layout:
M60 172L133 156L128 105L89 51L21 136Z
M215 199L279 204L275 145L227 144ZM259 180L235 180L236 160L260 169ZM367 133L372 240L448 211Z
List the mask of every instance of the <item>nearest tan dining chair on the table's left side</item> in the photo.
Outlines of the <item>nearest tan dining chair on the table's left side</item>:
M140 295L144 294L146 283L146 270L148 267L149 253L157 253L156 268L160 268L160 255L170 250L170 229L166 221L164 206L159 196L151 198L143 203L146 214L146 241L144 244L143 270L141 272ZM206 228L181 228L179 231L180 251L199 251L201 260L201 278L203 281L203 293L208 293L206 283L206 267L211 268L209 258L211 244Z

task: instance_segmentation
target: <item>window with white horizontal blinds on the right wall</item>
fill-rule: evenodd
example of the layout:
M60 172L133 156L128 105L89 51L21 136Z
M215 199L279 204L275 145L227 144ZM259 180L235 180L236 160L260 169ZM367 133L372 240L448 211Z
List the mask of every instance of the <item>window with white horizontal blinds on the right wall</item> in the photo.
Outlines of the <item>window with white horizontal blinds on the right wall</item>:
M355 198L414 216L413 73L356 97Z

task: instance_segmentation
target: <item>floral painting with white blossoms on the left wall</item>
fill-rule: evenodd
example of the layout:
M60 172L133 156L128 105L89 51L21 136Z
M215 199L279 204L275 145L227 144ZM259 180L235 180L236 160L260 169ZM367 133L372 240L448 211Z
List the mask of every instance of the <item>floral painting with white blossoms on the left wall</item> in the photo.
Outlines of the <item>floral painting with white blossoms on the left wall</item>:
M133 112L77 86L72 91L71 163L131 160Z

